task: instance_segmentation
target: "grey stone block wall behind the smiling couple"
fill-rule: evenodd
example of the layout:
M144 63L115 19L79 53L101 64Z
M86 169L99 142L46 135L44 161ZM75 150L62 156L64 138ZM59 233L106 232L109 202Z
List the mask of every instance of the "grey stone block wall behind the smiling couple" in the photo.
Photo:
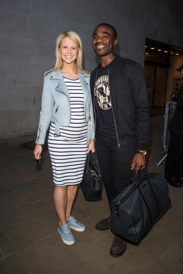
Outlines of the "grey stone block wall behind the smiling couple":
M91 72L99 62L92 32L110 23L118 32L116 53L143 66L146 37L183 47L171 5L164 0L1 0L0 138L36 133L43 73L55 63L59 33L74 30L81 36L83 68ZM168 12L168 25L161 7Z

